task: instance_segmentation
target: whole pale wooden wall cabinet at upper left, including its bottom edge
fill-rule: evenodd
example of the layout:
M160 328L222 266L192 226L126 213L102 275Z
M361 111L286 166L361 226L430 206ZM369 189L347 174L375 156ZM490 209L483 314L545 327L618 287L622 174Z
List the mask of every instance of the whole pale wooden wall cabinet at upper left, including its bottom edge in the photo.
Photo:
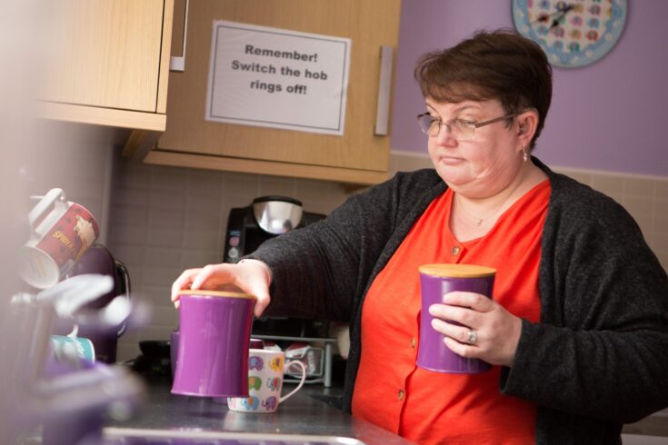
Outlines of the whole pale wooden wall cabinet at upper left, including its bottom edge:
M58 0L42 117L163 132L174 0Z

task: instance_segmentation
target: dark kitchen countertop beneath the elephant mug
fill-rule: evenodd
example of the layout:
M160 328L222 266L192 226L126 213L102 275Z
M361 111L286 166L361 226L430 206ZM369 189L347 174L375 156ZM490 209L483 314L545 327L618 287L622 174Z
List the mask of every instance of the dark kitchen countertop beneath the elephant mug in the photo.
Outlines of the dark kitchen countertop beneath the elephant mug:
M294 385L284 384L283 393L292 388ZM342 393L337 388L304 385L281 403L276 412L269 414L236 412L228 410L221 401L171 394L171 381L160 377L146 380L146 390L147 401L131 420L115 421L107 426L348 437L369 445L413 443L334 408Z

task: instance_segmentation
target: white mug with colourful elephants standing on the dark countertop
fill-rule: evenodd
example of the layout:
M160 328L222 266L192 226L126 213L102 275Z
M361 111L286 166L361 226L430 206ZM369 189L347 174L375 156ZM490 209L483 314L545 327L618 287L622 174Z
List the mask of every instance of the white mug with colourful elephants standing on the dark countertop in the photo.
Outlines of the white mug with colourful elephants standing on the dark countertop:
M293 391L281 397L287 367L302 368L302 379ZM227 407L242 412L274 412L278 405L304 386L306 368L301 361L285 365L285 352L250 350L248 356L248 397L228 397Z

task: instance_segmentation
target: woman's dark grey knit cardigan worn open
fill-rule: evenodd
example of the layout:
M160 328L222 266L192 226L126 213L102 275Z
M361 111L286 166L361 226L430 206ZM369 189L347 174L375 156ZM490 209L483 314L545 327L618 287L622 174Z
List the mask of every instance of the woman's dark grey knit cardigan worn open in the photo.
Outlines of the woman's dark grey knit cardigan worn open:
M523 320L499 391L537 405L536 443L621 443L623 423L668 406L666 272L622 206L532 161L552 186L539 265L541 319ZM248 256L272 270L267 313L351 323L345 410L363 347L364 296L445 188L433 169L397 173L324 221Z

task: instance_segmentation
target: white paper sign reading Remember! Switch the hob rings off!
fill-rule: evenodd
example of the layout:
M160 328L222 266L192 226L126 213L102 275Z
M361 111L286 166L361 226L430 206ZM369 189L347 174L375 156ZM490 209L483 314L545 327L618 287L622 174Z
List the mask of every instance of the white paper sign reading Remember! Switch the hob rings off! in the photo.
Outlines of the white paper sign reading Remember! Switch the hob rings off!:
M207 121L344 134L351 41L214 22Z

